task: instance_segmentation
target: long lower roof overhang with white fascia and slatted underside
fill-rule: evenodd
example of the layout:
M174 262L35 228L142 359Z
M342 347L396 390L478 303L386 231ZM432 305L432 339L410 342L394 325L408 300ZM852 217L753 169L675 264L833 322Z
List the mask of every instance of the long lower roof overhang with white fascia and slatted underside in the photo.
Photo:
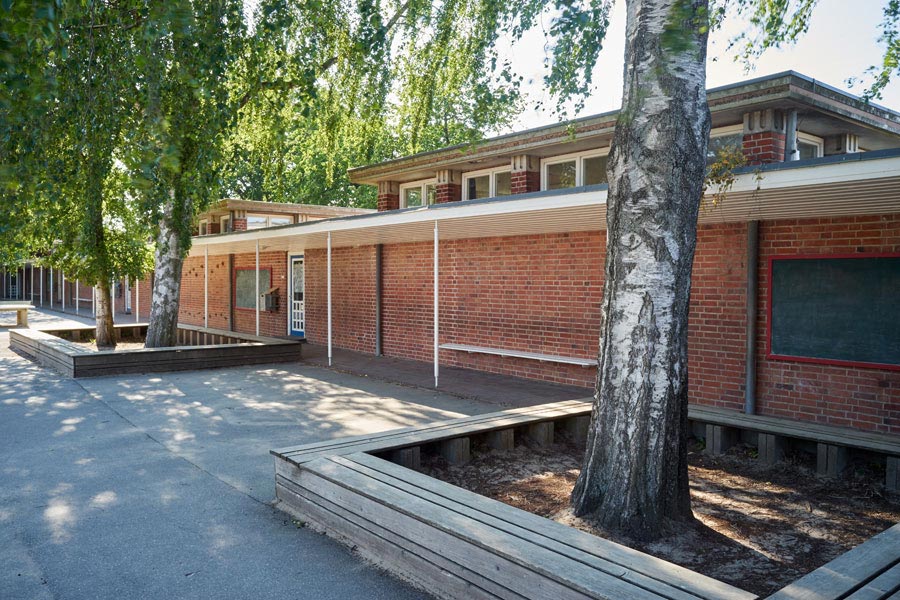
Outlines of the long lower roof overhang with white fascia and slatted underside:
M815 159L744 170L718 205L708 194L700 223L900 213L900 152ZM713 192L714 190L710 190ZM194 238L192 256L254 252L302 254L332 247L400 244L606 229L607 186L314 221Z

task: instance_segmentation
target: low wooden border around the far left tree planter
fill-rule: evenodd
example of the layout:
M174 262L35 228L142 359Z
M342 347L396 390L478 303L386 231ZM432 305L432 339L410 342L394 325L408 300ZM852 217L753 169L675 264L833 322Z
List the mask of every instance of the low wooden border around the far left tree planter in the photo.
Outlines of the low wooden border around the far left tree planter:
M95 352L33 329L11 330L9 345L38 363L73 378L294 362L300 360L302 348L302 344L296 341L272 339L268 343L238 342Z

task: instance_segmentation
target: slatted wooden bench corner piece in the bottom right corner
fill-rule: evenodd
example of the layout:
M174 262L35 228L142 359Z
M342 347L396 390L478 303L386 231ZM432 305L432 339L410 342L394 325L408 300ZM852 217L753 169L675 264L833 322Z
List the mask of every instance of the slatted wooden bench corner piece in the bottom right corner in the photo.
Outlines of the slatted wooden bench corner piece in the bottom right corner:
M769 600L900 598L900 524L769 596Z

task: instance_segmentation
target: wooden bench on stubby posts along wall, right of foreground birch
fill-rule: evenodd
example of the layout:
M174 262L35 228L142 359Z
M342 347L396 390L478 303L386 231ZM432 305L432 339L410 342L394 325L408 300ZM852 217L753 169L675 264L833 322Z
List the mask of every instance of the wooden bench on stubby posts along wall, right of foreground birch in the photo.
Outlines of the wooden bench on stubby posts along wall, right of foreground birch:
M887 476L885 486L900 489L900 437L883 433L859 431L821 423L809 423L766 415L747 415L733 410L691 405L691 421L706 424L706 448L711 454L725 452L738 441L738 430L757 434L759 458L767 464L784 458L787 439L815 442L816 472L837 477L847 464L847 450L867 450L885 455Z

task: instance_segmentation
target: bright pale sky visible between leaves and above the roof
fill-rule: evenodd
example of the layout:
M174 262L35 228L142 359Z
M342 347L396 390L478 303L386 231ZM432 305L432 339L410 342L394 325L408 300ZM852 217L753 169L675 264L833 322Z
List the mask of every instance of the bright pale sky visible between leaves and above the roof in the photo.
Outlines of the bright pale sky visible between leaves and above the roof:
M886 0L820 0L813 13L809 31L795 46L769 50L760 57L754 69L746 73L742 63L728 52L728 41L746 25L737 20L726 21L722 30L710 37L707 62L708 87L736 83L746 79L793 70L823 83L860 95L865 85L850 88L847 79L864 78L866 69L878 64L883 49L877 42L882 7ZM546 25L546 24L545 24ZM559 119L546 110L535 110L538 101L553 104L542 85L545 40L538 28L526 34L513 47L505 47L501 54L509 56L516 70L529 85L526 109L513 126L498 133L517 131L555 123ZM625 52L625 3L619 1L611 14L611 22L604 48L594 70L596 89L588 99L581 115L616 110L622 98L622 65ZM865 82L865 80L863 80ZM900 111L900 78L875 101Z

